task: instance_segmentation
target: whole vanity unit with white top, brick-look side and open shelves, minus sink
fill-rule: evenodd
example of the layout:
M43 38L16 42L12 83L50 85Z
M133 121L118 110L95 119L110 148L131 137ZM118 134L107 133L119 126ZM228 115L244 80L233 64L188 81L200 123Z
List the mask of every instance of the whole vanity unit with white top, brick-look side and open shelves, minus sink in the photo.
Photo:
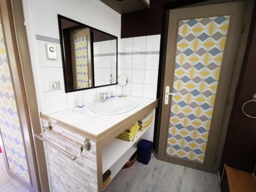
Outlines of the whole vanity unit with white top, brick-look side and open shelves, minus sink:
M53 191L101 192L102 174L111 170L112 181L137 151L137 142L145 133L154 133L155 120L146 130L139 131L130 142L115 139L158 106L158 100L154 99L132 96L122 99L135 101L138 106L118 115L101 115L90 110L91 106L99 103L96 101L86 104L83 109L72 108L49 115L41 114L43 124L50 122L52 126L50 130L43 127L41 136L46 142L48 174ZM77 146L84 145L88 140L90 147L82 147L80 151ZM79 155L72 159L67 154L73 157Z

